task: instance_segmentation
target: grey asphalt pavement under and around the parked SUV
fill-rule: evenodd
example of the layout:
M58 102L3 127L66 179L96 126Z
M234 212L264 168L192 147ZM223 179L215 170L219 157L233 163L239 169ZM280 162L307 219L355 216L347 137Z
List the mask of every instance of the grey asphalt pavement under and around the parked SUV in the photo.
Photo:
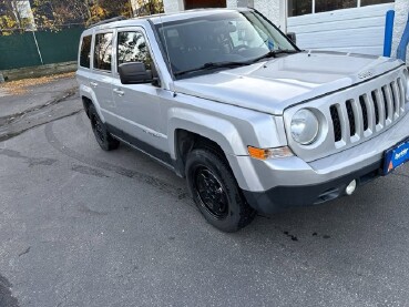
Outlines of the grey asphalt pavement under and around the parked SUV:
M80 110L0 142L0 306L409 306L409 166L225 234Z

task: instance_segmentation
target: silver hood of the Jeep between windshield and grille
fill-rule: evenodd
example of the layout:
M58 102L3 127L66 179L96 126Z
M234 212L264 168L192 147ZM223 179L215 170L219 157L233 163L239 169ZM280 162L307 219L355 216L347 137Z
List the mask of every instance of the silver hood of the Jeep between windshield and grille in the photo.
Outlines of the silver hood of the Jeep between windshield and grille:
M174 91L275 115L288 106L351 86L401 65L384 57L300 52L177 80Z

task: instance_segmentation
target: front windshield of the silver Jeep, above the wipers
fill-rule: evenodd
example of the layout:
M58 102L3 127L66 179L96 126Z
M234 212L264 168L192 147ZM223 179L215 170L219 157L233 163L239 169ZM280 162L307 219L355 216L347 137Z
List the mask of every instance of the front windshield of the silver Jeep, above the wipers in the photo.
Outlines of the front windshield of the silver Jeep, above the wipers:
M185 72L209 73L211 69L246 64L270 51L297 49L273 24L253 11L217 12L156 24L164 54L176 78ZM215 64L223 64L215 65ZM192 76L192 75L188 75Z

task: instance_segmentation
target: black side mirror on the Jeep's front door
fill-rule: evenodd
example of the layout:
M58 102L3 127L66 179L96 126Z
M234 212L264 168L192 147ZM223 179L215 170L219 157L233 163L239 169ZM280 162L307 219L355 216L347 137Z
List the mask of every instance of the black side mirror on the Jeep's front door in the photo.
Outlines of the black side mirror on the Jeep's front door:
M123 63L119 65L117 72L122 84L140 84L153 81L152 72L146 70L142 62Z

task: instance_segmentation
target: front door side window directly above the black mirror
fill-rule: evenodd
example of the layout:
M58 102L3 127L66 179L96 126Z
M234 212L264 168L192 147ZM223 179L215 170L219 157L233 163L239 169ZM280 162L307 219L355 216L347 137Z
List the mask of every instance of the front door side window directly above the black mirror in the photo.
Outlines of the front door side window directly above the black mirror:
M117 65L130 62L142 62L147 70L152 65L145 37L137 31L117 33Z

